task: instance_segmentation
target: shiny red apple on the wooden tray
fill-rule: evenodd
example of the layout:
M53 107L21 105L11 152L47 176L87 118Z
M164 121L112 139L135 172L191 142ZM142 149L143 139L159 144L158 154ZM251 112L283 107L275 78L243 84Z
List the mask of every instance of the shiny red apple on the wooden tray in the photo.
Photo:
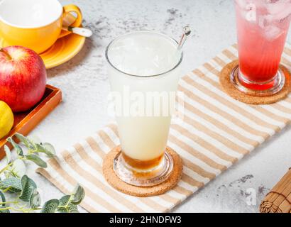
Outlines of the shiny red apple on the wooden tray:
M45 93L46 71L41 57L28 48L0 48L0 100L13 112L31 109Z

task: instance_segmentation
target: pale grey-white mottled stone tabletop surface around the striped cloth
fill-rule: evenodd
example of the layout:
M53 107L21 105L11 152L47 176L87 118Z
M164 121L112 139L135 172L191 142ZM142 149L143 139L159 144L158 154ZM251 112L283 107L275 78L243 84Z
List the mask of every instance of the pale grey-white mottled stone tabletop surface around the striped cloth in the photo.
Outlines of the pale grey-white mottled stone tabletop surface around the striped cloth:
M236 42L232 0L70 0L84 13L84 26L94 35L70 62L48 70L48 82L62 89L64 101L31 133L60 151L94 133L112 119L106 113L109 82L104 51L117 35L141 29L163 31L178 39L182 26L192 26L185 46L185 73ZM287 127L174 211L256 212L260 200L291 167L291 131ZM46 179L28 175L38 183L43 201L62 196ZM251 189L251 191L250 191ZM256 192L256 205L248 206L248 193Z

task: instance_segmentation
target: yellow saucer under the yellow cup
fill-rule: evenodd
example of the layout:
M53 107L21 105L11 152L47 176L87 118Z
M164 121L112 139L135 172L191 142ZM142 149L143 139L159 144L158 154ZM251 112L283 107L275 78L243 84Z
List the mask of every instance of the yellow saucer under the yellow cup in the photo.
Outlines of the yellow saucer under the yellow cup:
M82 49L86 38L81 35L70 34L59 38L50 49L40 54L45 62L45 68L50 69L70 60ZM0 37L0 48L7 46Z

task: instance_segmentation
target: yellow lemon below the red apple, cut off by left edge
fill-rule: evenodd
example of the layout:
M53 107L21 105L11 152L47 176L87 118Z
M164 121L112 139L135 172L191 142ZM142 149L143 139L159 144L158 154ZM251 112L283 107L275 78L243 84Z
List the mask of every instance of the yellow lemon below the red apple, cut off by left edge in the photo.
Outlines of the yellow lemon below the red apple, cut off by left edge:
M10 107L0 101L0 139L7 135L13 126L14 117Z

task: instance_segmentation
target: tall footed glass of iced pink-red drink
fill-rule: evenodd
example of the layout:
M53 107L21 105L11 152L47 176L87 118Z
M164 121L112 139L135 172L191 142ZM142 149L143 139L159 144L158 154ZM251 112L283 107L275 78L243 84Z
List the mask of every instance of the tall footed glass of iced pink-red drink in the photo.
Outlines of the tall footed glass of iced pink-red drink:
M237 89L270 96L284 87L280 60L291 21L291 0L235 0L238 60L231 74Z

